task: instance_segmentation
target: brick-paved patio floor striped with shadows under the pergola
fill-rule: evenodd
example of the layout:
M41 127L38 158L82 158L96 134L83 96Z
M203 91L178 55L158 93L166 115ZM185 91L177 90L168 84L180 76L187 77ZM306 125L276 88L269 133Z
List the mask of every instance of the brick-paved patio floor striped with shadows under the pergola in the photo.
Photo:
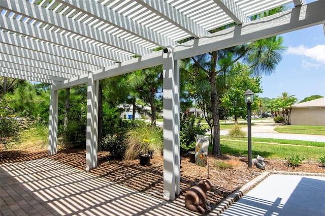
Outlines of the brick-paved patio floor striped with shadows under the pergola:
M0 165L1 215L197 215L50 159Z

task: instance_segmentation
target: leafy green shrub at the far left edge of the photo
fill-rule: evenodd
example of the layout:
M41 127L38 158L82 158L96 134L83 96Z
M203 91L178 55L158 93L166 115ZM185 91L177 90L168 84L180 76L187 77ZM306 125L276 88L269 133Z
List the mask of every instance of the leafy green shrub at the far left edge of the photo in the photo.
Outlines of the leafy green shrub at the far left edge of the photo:
M15 110L0 101L0 143L7 149L9 144L18 141L19 124Z

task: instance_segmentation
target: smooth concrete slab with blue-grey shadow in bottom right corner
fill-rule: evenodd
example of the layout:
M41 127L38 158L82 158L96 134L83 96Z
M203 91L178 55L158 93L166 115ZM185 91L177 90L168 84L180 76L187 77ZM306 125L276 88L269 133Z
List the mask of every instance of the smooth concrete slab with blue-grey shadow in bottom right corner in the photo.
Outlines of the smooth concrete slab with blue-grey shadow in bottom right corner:
M272 174L221 215L321 216L325 215L324 200L324 175Z

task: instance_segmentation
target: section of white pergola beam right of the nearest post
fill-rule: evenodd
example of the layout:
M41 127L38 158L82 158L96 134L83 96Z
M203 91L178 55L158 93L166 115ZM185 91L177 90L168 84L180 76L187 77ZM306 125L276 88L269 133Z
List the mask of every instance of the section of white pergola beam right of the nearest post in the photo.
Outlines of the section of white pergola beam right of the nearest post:
M324 8L325 1L316 1L224 29L209 37L188 41L174 48L175 59L188 58L325 23Z

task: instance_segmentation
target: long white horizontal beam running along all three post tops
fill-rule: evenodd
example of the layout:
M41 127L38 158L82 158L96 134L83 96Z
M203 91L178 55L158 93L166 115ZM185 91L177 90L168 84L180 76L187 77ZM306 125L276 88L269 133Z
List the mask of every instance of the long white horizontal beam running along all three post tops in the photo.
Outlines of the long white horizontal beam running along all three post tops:
M210 36L193 39L174 48L174 59L184 59L191 56L220 50L250 41L259 40L294 30L325 23L325 1L317 1L293 8L263 19L257 19L249 23L231 27L211 34ZM268 23L267 25L265 23ZM94 79L105 79L139 69L149 68L163 64L161 52L154 52L149 55L125 61L119 65L107 67L94 72ZM56 88L70 87L75 84L85 83L86 79L73 81L65 80L56 84Z

